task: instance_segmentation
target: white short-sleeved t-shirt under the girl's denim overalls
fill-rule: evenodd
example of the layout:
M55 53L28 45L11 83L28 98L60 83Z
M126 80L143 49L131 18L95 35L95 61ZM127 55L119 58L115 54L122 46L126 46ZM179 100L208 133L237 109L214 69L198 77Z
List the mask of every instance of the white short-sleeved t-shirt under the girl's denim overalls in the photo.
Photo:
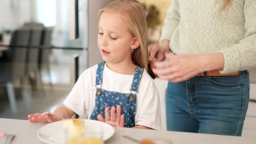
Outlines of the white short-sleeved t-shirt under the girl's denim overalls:
M69 109L80 116L92 115L95 107L96 71L98 65L86 69L80 75L66 100L63 102ZM106 64L102 74L102 88L107 91L131 93L133 75L124 75L110 70ZM143 71L137 93L135 125L152 129L161 129L161 112L158 90L147 71Z

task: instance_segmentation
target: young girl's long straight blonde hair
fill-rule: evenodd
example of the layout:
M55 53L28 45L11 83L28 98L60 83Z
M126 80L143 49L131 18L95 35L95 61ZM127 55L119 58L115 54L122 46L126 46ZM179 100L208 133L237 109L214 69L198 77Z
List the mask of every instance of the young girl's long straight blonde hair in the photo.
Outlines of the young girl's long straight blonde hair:
M148 35L145 10L136 0L114 0L99 10L98 19L103 12L118 12L121 19L137 37L140 46L132 52L132 62L141 68L148 69Z

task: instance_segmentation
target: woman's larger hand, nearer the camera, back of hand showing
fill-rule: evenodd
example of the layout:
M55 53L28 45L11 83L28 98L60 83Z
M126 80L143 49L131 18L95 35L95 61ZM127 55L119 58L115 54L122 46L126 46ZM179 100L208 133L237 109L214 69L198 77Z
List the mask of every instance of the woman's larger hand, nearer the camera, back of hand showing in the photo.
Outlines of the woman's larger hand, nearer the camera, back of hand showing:
M170 82L182 82L205 71L200 55L173 55L165 53L167 61L155 62L154 73Z

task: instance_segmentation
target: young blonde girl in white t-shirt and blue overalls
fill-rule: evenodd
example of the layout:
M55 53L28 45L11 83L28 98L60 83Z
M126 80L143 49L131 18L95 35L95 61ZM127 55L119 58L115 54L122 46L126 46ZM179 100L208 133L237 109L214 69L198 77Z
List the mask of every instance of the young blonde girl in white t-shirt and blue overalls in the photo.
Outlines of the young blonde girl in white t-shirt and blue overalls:
M135 0L115 0L100 10L98 47L104 62L86 69L54 116L28 115L30 122L55 122L74 113L114 127L160 129L158 91L147 73L147 24ZM110 112L109 112L110 110Z

